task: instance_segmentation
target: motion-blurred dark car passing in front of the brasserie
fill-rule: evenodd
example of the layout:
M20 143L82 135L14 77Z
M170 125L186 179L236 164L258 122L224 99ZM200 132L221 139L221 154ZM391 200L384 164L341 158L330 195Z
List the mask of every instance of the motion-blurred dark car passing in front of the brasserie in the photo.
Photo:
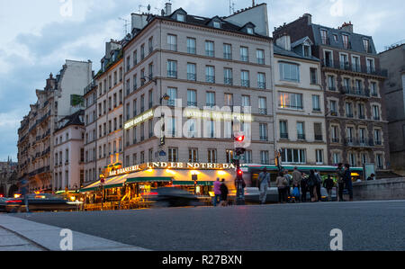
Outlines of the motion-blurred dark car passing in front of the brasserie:
M154 207L199 206L202 202L197 196L175 187L163 187L153 190L153 193L143 193L142 197L153 202Z

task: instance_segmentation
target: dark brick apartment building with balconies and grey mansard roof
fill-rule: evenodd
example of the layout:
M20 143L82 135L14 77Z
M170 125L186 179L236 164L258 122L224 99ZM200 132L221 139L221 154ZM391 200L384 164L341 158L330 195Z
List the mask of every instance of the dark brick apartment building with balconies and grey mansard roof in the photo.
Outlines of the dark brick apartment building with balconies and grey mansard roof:
M320 58L330 165L374 163L389 168L388 126L383 102L385 70L371 36L354 32L351 22L338 29L311 22L304 14L274 31L296 42L309 37L312 56Z

